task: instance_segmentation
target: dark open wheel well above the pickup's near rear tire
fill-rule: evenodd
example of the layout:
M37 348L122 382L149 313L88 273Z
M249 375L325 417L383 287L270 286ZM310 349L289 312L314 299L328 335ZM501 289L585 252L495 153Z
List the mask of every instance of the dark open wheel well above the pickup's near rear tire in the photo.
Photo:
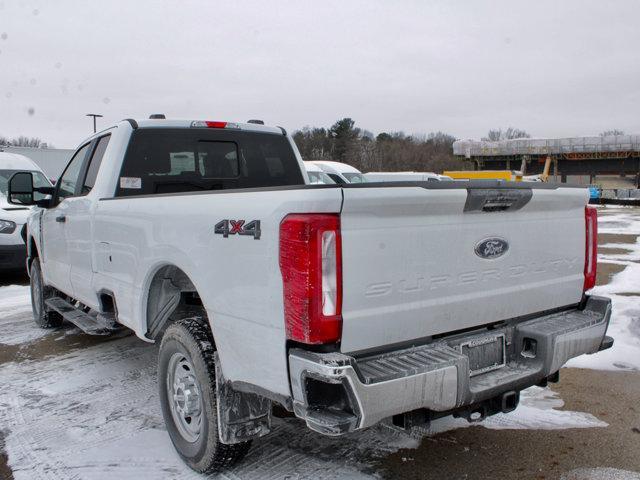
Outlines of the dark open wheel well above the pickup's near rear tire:
M210 330L207 312L191 279L178 267L165 265L149 286L147 337L158 339L171 323L185 318L196 318Z

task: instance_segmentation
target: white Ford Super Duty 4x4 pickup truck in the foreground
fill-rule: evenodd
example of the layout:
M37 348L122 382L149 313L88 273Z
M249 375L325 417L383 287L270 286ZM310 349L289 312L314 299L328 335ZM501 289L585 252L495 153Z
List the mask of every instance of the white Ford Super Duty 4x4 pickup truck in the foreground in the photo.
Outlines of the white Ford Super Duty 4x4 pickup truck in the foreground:
M274 405L325 435L516 408L611 346L588 191L310 185L253 123L126 120L84 141L28 223L33 312L160 342L170 438L193 469L241 458ZM48 200L32 200L34 190Z

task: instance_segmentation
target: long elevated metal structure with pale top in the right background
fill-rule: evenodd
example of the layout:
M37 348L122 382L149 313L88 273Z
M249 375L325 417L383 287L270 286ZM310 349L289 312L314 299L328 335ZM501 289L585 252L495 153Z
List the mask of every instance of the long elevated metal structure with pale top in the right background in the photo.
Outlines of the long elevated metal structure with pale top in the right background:
M599 175L617 175L631 177L640 188L640 135L458 140L453 154L473 170L520 170L525 165L527 175L542 173L550 156L551 174L563 182L573 175L589 176L590 183Z

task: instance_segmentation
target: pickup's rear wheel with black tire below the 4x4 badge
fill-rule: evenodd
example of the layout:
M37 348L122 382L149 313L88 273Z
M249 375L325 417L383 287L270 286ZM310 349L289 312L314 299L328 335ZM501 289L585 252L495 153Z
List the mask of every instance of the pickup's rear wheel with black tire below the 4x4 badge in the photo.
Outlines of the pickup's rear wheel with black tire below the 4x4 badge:
M197 320L185 319L167 328L158 354L160 405L169 437L184 462L200 473L213 473L235 464L246 455L251 446L250 441L235 445L220 442L214 352L208 328ZM175 373L178 370L179 373ZM183 387L188 386L184 392L194 390L194 384L191 383L193 380L197 383L195 391L200 400L200 413L194 413L193 417L189 414L196 412L198 408L187 409L187 404L194 404L193 397L186 393L180 394L183 390L176 390L173 386L178 375L185 376L181 377L181 381L187 378L182 383L178 382ZM173 395L170 398L170 389L174 394L182 395L185 400L181 404L175 402ZM182 410L179 412L179 409ZM196 422L195 418L200 421ZM200 425L199 429L196 423ZM197 438L192 430L198 430Z

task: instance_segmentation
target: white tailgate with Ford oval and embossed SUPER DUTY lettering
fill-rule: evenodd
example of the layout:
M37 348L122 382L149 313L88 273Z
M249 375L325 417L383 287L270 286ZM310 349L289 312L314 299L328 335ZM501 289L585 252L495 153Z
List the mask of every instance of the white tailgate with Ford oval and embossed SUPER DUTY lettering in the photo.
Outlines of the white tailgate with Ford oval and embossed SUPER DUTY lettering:
M343 192L343 352L581 300L586 189Z

